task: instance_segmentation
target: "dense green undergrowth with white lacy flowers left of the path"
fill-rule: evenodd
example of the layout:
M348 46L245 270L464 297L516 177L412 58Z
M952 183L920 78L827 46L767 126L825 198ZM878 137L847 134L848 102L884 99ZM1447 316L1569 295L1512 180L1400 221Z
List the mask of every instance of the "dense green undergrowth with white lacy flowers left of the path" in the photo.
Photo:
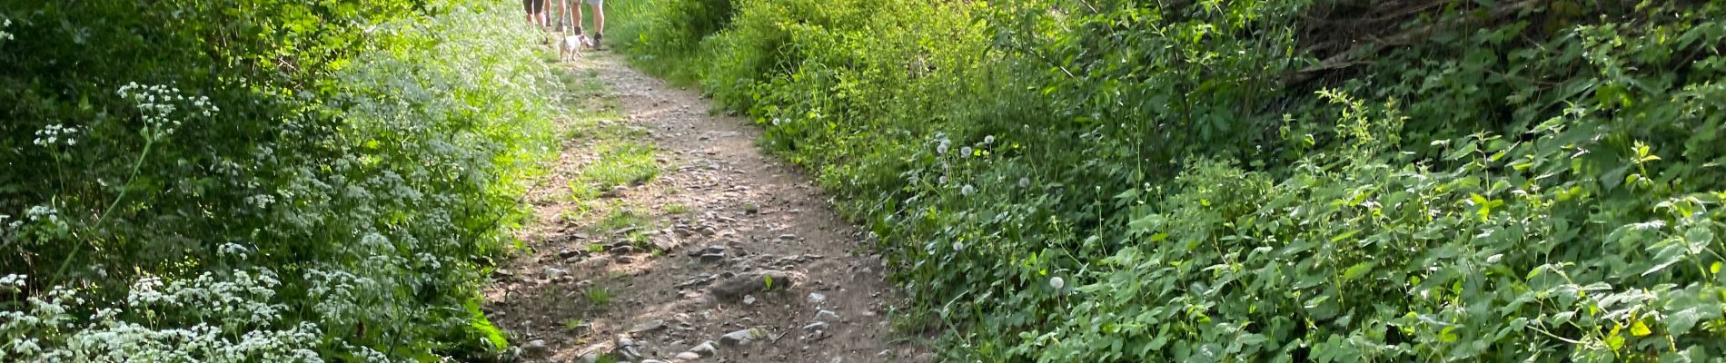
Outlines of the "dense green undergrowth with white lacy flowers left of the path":
M492 356L557 91L520 10L0 5L0 361Z

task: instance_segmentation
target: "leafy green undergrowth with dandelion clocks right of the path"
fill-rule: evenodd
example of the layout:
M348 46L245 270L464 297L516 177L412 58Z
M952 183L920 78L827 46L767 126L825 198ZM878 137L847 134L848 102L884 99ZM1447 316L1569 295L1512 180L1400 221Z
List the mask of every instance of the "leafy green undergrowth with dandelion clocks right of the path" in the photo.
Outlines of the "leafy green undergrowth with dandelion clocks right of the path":
M954 361L1685 361L1726 354L1723 19L654 0L616 28L816 170Z

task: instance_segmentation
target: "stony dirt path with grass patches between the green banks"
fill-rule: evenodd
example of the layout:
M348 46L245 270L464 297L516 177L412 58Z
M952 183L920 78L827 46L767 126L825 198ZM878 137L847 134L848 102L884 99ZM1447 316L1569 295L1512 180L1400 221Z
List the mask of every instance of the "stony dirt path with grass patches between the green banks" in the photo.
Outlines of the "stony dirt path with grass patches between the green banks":
M934 361L892 334L863 234L759 129L621 55L564 67L580 91L530 191L532 251L487 289L526 361Z

